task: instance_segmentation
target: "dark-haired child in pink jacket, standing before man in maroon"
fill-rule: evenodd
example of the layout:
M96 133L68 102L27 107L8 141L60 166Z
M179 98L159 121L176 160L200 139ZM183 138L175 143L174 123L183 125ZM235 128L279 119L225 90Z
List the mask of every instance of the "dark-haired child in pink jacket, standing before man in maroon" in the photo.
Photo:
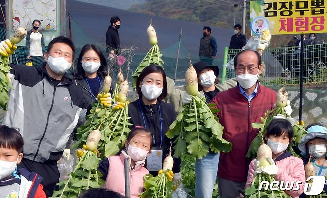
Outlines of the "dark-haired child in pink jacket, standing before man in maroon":
M273 119L270 124L267 126L267 132L265 140L267 145L272 150L271 167L269 172L266 172L269 175L275 175L274 178L276 181L294 181L294 187L296 181L301 181L300 190L289 190L285 193L293 198L298 198L304 190L305 185L305 172L303 161L294 157L290 152L286 151L289 143L291 143L293 138L292 125L286 119ZM274 162L276 165L274 164ZM249 188L252 184L252 181L255 176L256 171L256 159L252 160L248 170L246 188Z

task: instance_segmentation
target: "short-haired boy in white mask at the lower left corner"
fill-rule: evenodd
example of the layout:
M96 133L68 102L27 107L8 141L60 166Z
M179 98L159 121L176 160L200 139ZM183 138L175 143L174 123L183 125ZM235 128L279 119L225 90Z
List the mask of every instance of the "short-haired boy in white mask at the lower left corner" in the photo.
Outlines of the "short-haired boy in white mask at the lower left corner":
M0 198L46 198L42 177L17 168L23 158L23 145L16 129L0 126Z

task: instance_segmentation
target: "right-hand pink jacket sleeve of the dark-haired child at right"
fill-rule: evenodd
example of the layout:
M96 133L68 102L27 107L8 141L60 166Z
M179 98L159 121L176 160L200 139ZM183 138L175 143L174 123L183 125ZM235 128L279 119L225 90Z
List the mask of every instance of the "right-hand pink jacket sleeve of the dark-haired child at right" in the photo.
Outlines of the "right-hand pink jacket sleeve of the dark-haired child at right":
M303 161L300 158L292 157L292 161L291 162L287 161L287 163L290 163L288 170L283 170L282 168L278 167L278 172L277 175L275 176L275 179L280 182L301 181L302 183L300 184L300 190L285 191L285 193L288 194L289 196L298 197L303 193L304 185L306 183ZM289 175L288 172L290 172L291 174ZM295 183L294 183L294 187L295 187Z

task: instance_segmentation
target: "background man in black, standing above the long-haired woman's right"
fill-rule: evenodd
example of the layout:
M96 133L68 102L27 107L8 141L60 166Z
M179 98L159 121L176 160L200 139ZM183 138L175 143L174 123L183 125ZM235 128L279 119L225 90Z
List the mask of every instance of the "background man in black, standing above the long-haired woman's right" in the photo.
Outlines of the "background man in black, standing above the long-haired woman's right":
M107 30L107 40L106 40L106 49L107 53L114 55L117 53L117 50L120 50L120 40L118 29L120 28L120 18L118 16L113 16L110 19L111 25Z

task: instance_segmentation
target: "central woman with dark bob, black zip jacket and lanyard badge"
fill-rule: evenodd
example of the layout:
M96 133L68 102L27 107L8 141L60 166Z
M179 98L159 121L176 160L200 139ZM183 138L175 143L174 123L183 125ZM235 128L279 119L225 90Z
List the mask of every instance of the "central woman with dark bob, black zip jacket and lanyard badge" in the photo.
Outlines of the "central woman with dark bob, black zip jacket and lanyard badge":
M170 141L165 135L169 126L176 119L176 111L172 104L162 101L167 95L167 79L161 66L151 64L147 66L138 77L136 92L139 99L131 102L128 106L130 122L148 129L153 136L153 149L162 150L162 161L169 153ZM153 153L157 153L153 152ZM162 168L162 163L159 165ZM151 166L152 167L152 166ZM151 169L149 163L147 168L151 174L157 175L161 169ZM178 173L180 160L174 159L173 172ZM154 172L152 172L154 171ZM178 174L177 174L178 175Z

